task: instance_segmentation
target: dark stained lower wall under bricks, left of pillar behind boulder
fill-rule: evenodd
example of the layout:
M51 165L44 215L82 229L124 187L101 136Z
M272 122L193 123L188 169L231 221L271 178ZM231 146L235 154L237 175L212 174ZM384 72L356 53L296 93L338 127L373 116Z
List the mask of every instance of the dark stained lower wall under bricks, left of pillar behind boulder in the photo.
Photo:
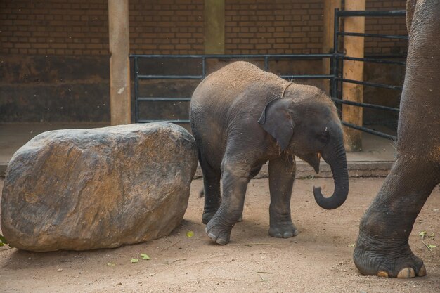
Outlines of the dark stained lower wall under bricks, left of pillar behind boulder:
M110 120L105 56L0 56L0 122Z

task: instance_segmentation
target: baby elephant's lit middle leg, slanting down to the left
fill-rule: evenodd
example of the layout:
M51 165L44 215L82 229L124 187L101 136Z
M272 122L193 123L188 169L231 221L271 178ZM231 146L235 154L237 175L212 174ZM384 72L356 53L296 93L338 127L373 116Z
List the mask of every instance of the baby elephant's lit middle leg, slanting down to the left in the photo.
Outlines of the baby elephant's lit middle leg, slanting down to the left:
M224 168L222 179L223 199L219 210L206 226L206 233L209 238L219 245L226 245L229 242L231 230L242 215L249 181L248 171L233 170L227 166Z

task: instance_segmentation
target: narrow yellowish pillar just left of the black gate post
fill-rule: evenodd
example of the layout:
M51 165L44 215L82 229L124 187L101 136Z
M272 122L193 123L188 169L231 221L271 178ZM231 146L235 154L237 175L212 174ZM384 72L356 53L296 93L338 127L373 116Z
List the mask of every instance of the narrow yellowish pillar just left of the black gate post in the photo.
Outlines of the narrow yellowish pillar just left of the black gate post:
M335 8L341 8L341 0L323 0L323 53L333 53L333 31ZM323 59L323 74L330 74L330 58ZM323 90L330 93L330 80L325 81Z

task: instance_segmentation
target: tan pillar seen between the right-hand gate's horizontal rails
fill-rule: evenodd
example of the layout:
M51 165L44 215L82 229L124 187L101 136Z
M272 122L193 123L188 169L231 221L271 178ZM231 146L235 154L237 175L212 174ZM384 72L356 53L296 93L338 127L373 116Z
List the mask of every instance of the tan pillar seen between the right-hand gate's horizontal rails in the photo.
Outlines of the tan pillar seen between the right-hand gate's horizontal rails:
M365 0L345 0L346 11L364 11ZM345 32L365 32L365 17L344 18ZM363 58L364 37L344 37L344 51L346 56ZM344 60L345 79L363 81L363 62ZM342 86L344 100L362 103L363 86L344 82ZM351 105L342 105L342 119L345 122L362 126L363 108ZM362 150L362 132L344 126L344 140L347 151Z

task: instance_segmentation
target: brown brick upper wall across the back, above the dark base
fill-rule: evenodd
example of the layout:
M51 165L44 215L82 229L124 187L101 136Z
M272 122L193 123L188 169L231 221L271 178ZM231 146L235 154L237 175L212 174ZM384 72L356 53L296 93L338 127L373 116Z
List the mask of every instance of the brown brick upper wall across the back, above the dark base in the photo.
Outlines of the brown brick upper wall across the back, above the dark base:
M131 0L131 53L204 52L204 0ZM367 8L406 1L367 0ZM323 0L225 0L226 53L321 53ZM0 1L0 53L105 56L106 0ZM367 32L406 34L404 18L367 18ZM365 39L365 53L399 53L399 41Z

